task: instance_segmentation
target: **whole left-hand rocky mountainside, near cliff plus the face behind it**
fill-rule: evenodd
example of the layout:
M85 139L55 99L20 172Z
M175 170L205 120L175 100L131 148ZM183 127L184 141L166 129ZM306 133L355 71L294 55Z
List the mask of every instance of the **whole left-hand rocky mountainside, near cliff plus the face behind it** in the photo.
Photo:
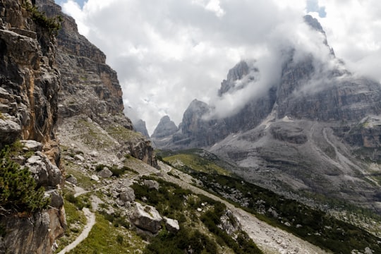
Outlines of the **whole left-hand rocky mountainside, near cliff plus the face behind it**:
M0 253L52 253L66 229L62 147L115 165L157 161L123 115L115 71L73 18L52 0L1 0L0 13Z

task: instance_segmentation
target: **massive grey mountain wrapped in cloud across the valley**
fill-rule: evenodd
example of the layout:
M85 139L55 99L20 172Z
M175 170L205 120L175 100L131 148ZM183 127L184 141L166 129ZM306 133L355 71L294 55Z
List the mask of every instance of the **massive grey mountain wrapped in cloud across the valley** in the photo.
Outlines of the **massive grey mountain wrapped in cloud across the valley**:
M274 191L344 198L380 212L381 168L373 163L380 159L380 83L347 71L318 21L305 21L322 35L325 61L284 51L279 82L262 96L222 118L208 117L214 106L193 101L179 131L159 148L205 147L234 162L236 174ZM257 73L255 61L241 61L219 97L255 85Z

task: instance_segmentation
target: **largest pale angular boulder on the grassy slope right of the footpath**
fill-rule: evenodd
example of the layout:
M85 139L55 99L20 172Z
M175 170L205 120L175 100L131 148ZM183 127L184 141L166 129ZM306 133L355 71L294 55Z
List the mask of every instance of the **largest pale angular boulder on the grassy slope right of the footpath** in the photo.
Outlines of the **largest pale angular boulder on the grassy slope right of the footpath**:
M130 216L131 222L139 229L150 231L152 234L156 234L162 229L162 220L159 212L155 207L150 205L141 205L135 202L135 209Z

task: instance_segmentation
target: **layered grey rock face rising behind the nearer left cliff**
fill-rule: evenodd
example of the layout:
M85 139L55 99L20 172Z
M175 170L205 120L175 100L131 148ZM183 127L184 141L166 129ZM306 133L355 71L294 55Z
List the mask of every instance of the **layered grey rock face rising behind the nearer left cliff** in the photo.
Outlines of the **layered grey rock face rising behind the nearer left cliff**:
M61 13L61 7L54 4L54 1L40 0L37 5L47 16L59 15L63 18L62 29L57 36L56 52L57 66L62 74L59 127L63 132L70 130L75 136L78 121L87 121L89 125L96 126L99 133L114 139L107 144L110 153L119 156L128 153L157 167L150 141L142 134L133 134L133 125L123 114L121 86L116 72L106 64L104 53L78 33L75 20ZM94 135L92 138L102 143L104 137ZM81 138L79 135L77 137Z

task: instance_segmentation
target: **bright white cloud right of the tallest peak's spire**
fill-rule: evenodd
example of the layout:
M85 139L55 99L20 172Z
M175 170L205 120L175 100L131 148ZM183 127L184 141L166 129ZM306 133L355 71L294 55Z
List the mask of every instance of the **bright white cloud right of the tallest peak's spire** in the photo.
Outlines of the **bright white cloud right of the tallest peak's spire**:
M319 1L327 12L320 22L335 54L355 73L381 80L381 2Z

